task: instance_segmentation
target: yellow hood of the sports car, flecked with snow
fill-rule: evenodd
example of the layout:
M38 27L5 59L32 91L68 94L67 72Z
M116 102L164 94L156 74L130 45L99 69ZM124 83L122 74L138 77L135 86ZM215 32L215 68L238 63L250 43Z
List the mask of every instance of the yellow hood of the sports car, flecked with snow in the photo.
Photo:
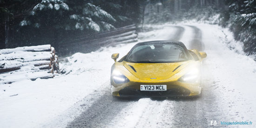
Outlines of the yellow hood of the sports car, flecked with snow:
M141 80L163 80L172 77L189 64L190 61L178 63L129 63L123 66Z

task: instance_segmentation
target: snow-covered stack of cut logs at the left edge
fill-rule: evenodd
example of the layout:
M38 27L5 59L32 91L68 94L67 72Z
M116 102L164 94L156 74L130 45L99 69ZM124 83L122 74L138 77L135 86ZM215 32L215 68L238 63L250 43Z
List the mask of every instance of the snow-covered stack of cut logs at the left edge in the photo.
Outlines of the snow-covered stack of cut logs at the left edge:
M58 56L51 45L0 50L0 84L53 78L59 72Z

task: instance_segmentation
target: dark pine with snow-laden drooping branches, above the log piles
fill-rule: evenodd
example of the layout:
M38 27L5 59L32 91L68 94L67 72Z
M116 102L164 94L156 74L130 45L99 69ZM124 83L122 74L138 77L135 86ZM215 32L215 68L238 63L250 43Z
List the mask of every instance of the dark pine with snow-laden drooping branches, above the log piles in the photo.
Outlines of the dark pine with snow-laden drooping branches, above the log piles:
M59 45L63 38L89 35L115 28L115 19L99 6L81 0L42 0L20 22L21 29L32 29L40 44ZM29 38L29 37L27 37Z

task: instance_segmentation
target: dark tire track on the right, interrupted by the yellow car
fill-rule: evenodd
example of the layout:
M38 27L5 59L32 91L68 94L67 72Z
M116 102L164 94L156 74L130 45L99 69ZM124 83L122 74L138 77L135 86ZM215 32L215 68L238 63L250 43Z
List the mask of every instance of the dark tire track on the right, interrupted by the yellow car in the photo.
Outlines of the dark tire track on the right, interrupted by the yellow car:
M189 42L189 49L204 50L202 43L202 32L195 26L189 26L193 29L194 37ZM206 58L207 59L207 58ZM199 98L173 98L175 101L174 113L175 117L172 122L172 127L210 127L210 121L219 119L227 119L225 113L220 108L219 99L215 92L216 81L212 78L212 74L207 72L209 70L208 64L203 64L202 78L202 96Z

